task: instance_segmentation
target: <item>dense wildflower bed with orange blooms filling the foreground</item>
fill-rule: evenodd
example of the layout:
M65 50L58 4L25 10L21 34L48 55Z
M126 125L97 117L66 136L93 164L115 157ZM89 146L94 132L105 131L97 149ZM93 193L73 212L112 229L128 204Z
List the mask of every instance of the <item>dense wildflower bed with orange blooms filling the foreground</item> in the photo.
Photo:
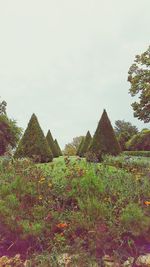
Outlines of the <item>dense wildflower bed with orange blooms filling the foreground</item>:
M150 243L149 164L120 161L2 160L0 256L19 253L31 266L54 267L63 266L63 253L73 255L72 266L100 266L105 254L136 256Z

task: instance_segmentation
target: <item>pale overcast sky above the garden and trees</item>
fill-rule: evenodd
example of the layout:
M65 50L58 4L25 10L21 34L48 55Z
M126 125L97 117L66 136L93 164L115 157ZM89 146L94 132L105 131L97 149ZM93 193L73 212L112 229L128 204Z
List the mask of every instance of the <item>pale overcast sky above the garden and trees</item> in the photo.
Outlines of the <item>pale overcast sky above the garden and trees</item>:
M61 147L103 109L133 117L128 70L150 44L150 0L0 0L0 96L24 129L35 113Z

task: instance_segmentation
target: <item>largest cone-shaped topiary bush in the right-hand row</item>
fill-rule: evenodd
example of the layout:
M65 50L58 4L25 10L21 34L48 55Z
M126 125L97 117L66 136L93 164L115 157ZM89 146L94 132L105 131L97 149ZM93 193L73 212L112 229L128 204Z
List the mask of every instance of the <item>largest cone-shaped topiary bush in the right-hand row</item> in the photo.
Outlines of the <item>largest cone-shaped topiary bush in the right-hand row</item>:
M102 117L91 142L89 152L96 155L100 161L102 154L118 155L121 152L120 145L115 136L113 127L108 118L106 110L103 111Z

